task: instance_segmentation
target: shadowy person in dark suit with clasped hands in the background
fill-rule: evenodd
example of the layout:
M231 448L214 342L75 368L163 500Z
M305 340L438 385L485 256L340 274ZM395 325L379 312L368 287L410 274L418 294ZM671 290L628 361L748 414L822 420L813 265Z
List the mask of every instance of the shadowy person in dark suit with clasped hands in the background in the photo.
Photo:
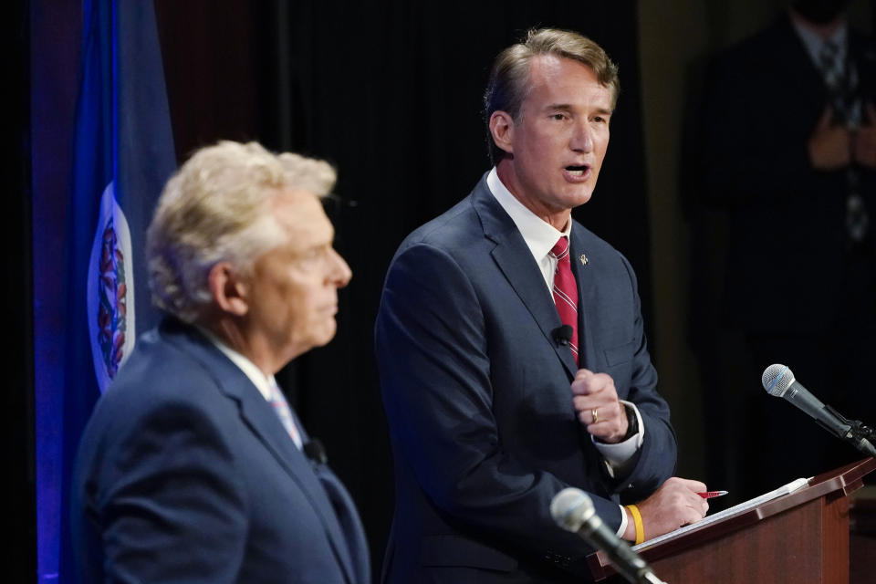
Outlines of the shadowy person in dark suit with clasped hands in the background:
M726 450L710 449L729 457L735 485L725 486L735 495L860 457L767 396L760 375L770 364L876 423L866 365L876 354L876 52L850 27L848 5L793 2L715 59L703 159L688 169L702 167L702 202L727 214L721 334L737 331L742 350L705 368L711 380L715 370L743 370L745 381L725 391L710 383L717 393L706 405L740 430ZM708 281L713 269L694 274Z

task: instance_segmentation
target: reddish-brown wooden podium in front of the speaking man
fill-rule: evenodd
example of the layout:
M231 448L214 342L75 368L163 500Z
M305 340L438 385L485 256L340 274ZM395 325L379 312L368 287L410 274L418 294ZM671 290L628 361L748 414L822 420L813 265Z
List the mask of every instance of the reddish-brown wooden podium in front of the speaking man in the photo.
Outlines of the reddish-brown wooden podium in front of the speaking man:
M876 460L866 458L819 474L797 491L639 553L667 584L849 584L848 495L874 469ZM587 559L597 581L626 581L602 552Z

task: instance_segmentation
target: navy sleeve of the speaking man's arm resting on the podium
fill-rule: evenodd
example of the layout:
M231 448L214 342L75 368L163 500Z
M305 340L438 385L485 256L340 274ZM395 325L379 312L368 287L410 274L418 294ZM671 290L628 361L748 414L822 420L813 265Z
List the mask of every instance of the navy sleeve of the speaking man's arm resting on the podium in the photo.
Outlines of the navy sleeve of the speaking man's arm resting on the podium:
M381 388L395 455L433 504L474 532L539 557L588 552L556 526L551 498L568 486L503 451L491 410L494 388L485 315L464 270L431 245L394 259L376 326ZM595 497L620 525L620 509Z

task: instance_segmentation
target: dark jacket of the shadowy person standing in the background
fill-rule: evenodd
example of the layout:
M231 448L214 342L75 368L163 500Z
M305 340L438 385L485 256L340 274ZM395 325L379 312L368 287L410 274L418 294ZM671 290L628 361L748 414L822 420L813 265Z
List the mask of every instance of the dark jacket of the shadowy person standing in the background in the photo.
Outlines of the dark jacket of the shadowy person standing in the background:
M859 93L873 102L876 53L853 31L850 58ZM729 211L723 304L729 322L745 330L823 331L841 305L846 176L814 170L807 151L827 104L821 74L787 16L713 64L703 123L703 195ZM693 166L690 172L697 172ZM872 231L876 174L859 172Z

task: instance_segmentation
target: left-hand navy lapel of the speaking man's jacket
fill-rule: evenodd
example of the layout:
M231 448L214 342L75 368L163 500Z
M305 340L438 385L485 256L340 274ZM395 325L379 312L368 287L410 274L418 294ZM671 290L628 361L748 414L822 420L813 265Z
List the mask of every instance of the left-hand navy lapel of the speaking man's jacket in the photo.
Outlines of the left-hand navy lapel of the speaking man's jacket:
M554 299L545 286L544 278L532 252L523 240L523 235L520 235L514 221L495 200L493 193L490 193L486 185L486 175L474 187L471 196L474 211L478 214L484 228L484 235L495 243L491 254L496 265L535 319L545 342L557 353L569 378L574 377L578 366L575 364L572 352L568 347L559 345L554 340L553 331L563 323L559 320Z

